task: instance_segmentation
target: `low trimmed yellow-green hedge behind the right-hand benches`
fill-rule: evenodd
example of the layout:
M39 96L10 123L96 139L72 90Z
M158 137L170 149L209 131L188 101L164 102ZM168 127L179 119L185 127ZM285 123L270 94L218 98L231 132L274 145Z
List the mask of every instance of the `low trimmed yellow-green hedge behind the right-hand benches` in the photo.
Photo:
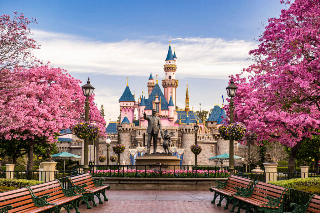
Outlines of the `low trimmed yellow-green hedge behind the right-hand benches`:
M272 181L271 184L283 186L308 192L311 194L320 194L320 178L297 178L289 180Z

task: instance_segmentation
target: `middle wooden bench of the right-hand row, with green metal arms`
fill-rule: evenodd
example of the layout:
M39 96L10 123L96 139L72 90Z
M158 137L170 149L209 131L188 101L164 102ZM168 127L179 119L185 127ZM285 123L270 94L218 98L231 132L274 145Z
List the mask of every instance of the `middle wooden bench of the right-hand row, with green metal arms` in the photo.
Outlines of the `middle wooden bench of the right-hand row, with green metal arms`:
M252 208L254 212L284 212L284 194L288 191L288 188L257 181L252 189L238 187L235 187L235 189L238 192L234 195L230 212L234 211L236 205L239 205L237 213L244 205L246 205L246 213Z

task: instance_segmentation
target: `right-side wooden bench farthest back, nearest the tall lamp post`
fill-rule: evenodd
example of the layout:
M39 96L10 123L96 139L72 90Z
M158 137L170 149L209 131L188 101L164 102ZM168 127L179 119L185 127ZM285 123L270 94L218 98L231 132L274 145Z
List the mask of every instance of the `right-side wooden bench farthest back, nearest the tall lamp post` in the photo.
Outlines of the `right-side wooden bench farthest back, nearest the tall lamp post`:
M210 191L214 191L214 198L211 201L211 203L215 203L216 198L220 195L220 201L217 204L217 206L221 205L221 201L226 198L227 204L223 209L228 209L229 203L233 199L233 195L236 194L237 190L234 187L241 187L249 189L250 186L253 184L252 179L243 178L236 175L229 175L227 181L221 182L219 180L216 180L215 182L218 184L218 186L211 186Z

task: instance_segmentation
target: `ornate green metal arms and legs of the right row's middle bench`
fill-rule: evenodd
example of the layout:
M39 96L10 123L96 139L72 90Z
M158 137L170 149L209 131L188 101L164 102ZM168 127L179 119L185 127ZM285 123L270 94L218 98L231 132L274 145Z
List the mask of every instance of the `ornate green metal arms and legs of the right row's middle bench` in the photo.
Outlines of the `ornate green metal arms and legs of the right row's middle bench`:
M235 189L237 190L237 193L234 194L234 196L241 196L241 197L251 197L254 187L256 186L257 183L262 182L262 181L257 181L252 189L245 189L245 188L239 188L239 187L235 187ZM276 186L276 185L275 185ZM267 190L266 190L267 191ZM264 198L268 200L268 203L266 204L260 204L258 206L252 205L250 203L246 203L244 201L238 200L236 197L234 197L234 202L233 202L233 207L230 210L230 212L234 212L234 209L236 207L236 205L239 205L238 210L236 211L236 213L240 212L240 209L244 206L244 204L246 203L246 213L250 211L250 209L254 209L254 212L264 212L264 213L283 213L284 212L284 199L282 198L282 196L284 195L284 193L288 191L288 188L285 188L282 193L280 194L279 197L277 198L273 198L270 196L265 196ZM280 204L280 206L279 206ZM263 207L266 206L266 207ZM270 208L270 207L277 207L279 206L279 208ZM268 208L269 207L269 208Z

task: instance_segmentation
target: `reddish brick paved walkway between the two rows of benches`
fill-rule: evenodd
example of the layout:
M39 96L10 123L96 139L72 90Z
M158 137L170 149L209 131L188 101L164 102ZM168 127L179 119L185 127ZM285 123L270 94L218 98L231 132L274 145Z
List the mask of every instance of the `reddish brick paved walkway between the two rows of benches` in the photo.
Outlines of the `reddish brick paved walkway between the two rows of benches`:
M85 204L81 204L81 212L141 212L141 213L200 213L219 212L228 213L232 208L224 210L225 199L221 206L212 204L213 192L205 191L157 191L157 190L106 190L107 198L103 204L87 209ZM95 197L96 198L96 197ZM219 202L219 197L216 203ZM92 206L92 202L89 202ZM75 212L75 210L71 210ZM244 212L244 210L241 210Z

